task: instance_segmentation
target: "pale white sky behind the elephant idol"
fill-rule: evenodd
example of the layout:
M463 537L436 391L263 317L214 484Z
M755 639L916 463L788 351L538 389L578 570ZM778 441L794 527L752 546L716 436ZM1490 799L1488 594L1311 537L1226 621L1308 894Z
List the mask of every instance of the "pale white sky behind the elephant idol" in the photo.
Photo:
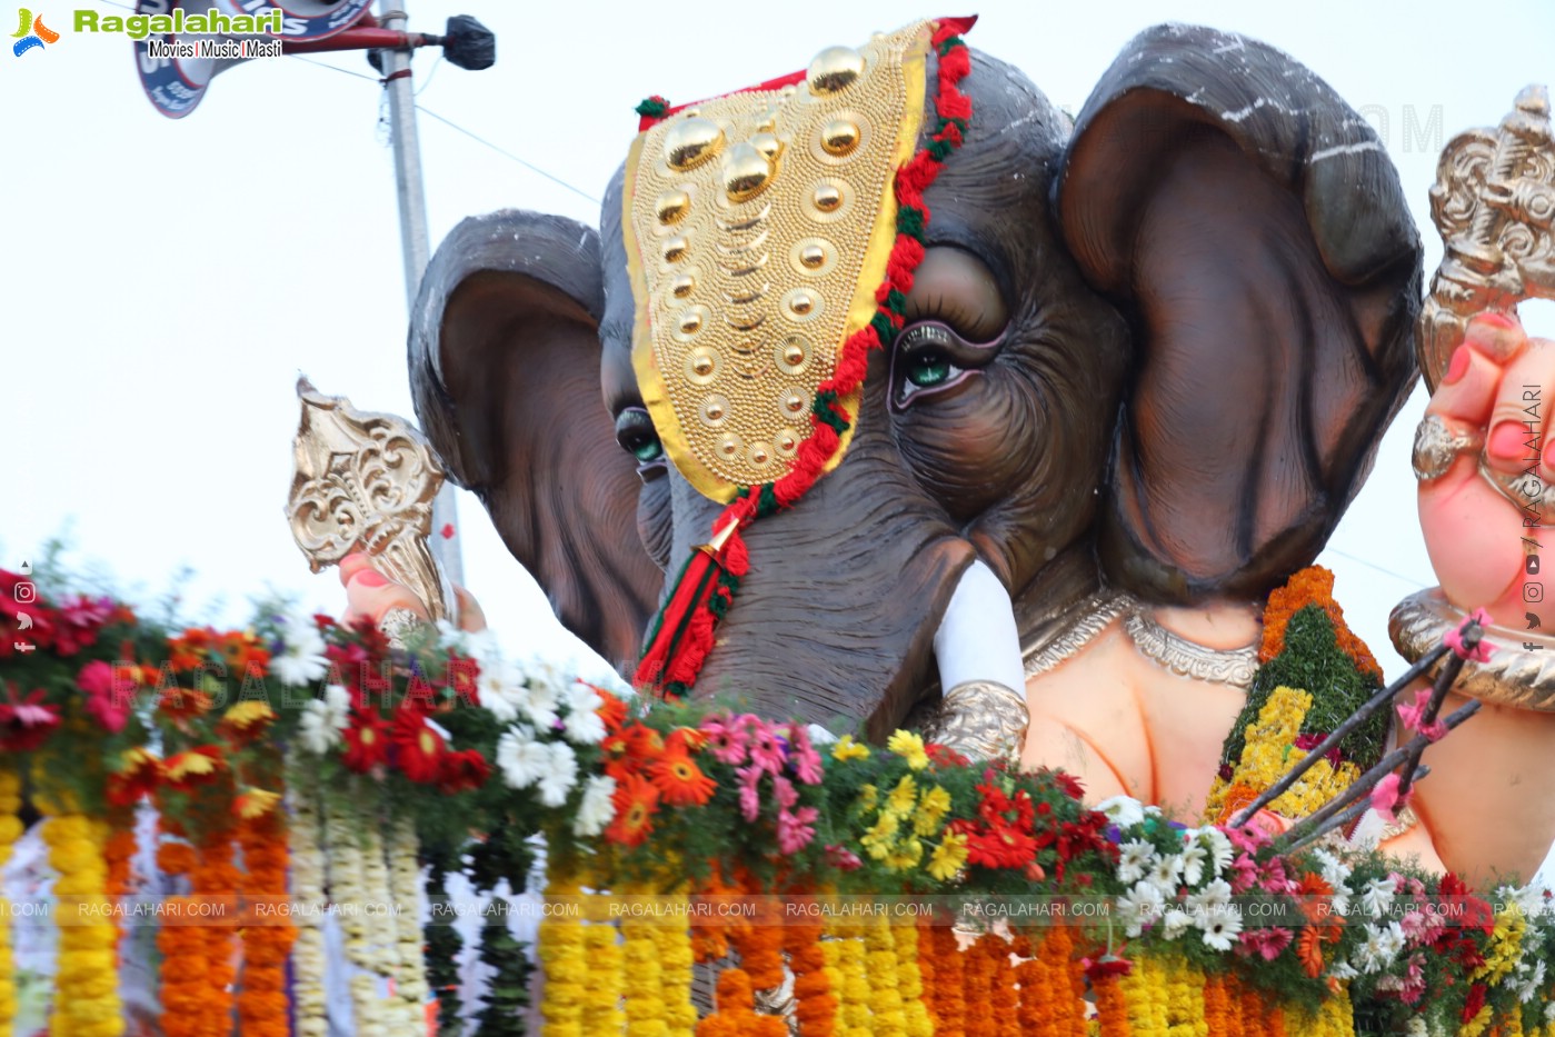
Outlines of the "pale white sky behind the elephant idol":
M1547 0L980 6L969 42L1025 68L1070 110L1155 22L1207 23L1292 53L1382 132L1423 227L1427 274L1440 243L1426 191L1441 145L1499 121L1524 84L1555 79ZM243 620L247 597L266 586L337 613L333 574L308 572L283 519L292 382L305 372L362 409L412 412L379 89L300 61L261 61L224 73L199 110L169 121L145 100L124 39L65 31L58 0L33 8L65 36L20 59L0 54L0 564L68 529L78 564L142 595L191 566L180 592L219 622ZM468 12L498 34L488 72L443 64L428 82L434 58L423 53L420 103L596 196L642 96L723 93L799 68L821 47L938 14L875 0L415 0L409 9L412 28L440 31L446 16ZM760 25L743 17L765 12ZM359 53L323 59L370 73ZM1410 120L1440 134L1423 146L1406 134ZM594 202L468 137L425 117L420 132L434 247L460 218L499 207L597 222ZM1525 316L1555 334L1555 308ZM1322 560L1392 672L1401 667L1387 613L1435 583L1409 471L1423 406L1417 393ZM484 510L468 494L460 508L466 580L493 627L510 645L564 658L560 628Z

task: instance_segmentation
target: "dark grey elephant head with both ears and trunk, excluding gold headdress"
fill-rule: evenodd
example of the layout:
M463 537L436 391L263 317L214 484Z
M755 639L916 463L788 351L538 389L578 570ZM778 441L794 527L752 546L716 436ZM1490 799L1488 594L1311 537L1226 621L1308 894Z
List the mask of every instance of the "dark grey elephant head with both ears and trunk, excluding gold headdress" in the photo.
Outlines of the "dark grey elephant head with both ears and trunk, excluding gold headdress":
M1286 54L1154 28L1073 121L978 51L961 90L903 326L841 462L746 530L697 693L889 731L955 655L936 634L978 561L1001 588L978 609L1028 647L1102 588L1261 599L1322 549L1410 389L1421 249L1396 174ZM460 224L409 342L454 479L628 667L722 507L669 462L633 362L630 173L599 233Z

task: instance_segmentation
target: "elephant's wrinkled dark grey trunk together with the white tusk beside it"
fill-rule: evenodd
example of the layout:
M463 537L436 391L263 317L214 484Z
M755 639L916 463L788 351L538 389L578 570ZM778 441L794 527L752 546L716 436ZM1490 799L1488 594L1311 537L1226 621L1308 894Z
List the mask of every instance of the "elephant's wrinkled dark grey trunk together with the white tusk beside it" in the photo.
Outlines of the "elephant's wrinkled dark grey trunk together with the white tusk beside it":
M883 429L869 435L871 426L883 423L866 421L846 462L795 508L746 530L751 571L717 628L698 697L767 717L858 720L868 737L883 738L935 684L936 650L953 679L1020 687L1008 592L981 564L963 581L977 558L972 544L907 474ZM689 487L676 512L692 519L675 524L684 557L686 530L709 529L717 512ZM958 608L947 619L953 597ZM992 628L1005 631L1003 659L989 670L980 662L986 648L959 642L980 623L991 628L980 613L994 599L1001 599Z

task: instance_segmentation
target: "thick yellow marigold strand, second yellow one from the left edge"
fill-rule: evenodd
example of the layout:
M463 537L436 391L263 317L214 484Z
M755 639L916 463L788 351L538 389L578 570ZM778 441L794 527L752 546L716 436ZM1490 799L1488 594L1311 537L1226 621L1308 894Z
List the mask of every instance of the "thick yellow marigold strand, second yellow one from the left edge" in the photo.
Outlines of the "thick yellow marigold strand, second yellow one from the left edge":
M107 864L103 826L79 813L56 813L44 822L48 863L59 880L59 956L54 973L51 1037L118 1037L124 1018L118 1001L118 930L107 920Z

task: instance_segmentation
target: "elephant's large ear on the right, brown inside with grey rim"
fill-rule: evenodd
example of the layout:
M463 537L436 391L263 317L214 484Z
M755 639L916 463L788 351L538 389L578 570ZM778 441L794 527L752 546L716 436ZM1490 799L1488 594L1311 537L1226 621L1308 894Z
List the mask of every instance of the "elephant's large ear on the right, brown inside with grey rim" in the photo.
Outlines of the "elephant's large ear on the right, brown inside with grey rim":
M1413 384L1421 249L1392 162L1289 56L1158 26L1087 101L1054 208L1134 336L1109 578L1263 597L1316 558Z

